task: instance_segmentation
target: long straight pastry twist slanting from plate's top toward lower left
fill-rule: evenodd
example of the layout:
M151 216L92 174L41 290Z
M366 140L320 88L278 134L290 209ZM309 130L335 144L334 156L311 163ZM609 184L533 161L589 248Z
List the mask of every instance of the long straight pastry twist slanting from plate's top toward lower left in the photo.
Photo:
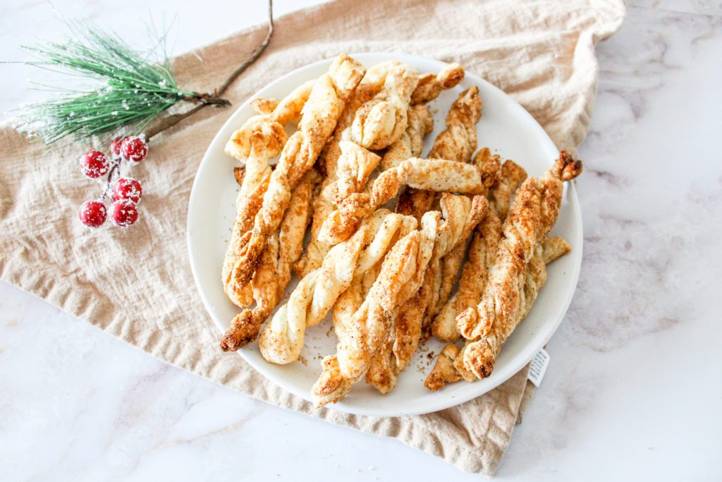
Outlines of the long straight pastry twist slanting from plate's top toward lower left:
M346 100L364 72L361 64L342 54L331 64L329 72L314 82L303 106L298 130L286 143L271 173L264 203L256 214L253 229L240 239L240 246L235 247L239 253L232 270L235 283L243 285L251 279L266 241L281 223L291 190L316 162L321 148L334 131Z

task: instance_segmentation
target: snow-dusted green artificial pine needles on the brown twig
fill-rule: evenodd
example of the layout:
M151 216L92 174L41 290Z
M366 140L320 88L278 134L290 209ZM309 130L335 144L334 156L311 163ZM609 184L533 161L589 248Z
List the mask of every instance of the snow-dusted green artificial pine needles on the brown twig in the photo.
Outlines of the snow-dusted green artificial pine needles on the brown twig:
M29 64L95 79L89 90L66 90L59 97L19 108L20 132L45 144L72 134L84 139L130 126L137 134L160 113L181 101L227 105L227 100L178 87L168 58L134 51L118 35L92 24L69 22L73 36L64 42L40 40L23 47ZM159 45L161 42L158 43ZM52 88L52 87L51 87Z

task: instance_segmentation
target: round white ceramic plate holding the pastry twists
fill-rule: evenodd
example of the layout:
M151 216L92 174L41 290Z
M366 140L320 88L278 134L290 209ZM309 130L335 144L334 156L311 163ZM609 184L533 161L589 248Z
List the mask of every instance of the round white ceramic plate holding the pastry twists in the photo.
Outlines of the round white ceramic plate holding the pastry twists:
M353 55L365 66L385 60L398 60L416 67L419 72L438 72L445 64L440 61L399 53L362 53ZM316 62L271 82L254 96L283 98L294 87L326 72L331 59ZM521 106L501 90L466 72L464 82L443 92L430 106L434 113L434 132L426 137L426 153L436 135L444 129L446 111L459 92L476 85L484 101L484 115L479 122L479 147L490 147L502 158L513 159L532 176L539 176L558 151L544 129ZM253 111L248 102L240 106L220 129L206 151L196 175L188 205L188 251L193 277L201 298L220 334L225 332L238 308L227 300L222 289L221 266L228 238L235 218L235 197L238 185L232 176L237 161L223 151L227 139ZM401 416L429 413L452 407L478 397L516 374L529 363L544 346L562 321L573 296L582 259L582 223L577 194L573 185L565 188L565 197L554 236L563 236L573 247L567 256L549 266L547 284L539 293L529 317L519 325L505 343L492 375L474 383L450 384L438 392L429 392L422 382L433 367L430 353L438 353L442 344L429 340L417 350L414 361L399 376L399 383L388 395L380 395L373 387L360 382L342 403L330 408L349 413L372 416ZM295 286L293 280L287 290ZM238 355L264 374L272 382L299 397L311 400L310 389L321 373L321 358L335 352L336 338L329 319L308 330L302 356L307 363L278 366L264 361L253 343ZM219 348L220 349L220 348ZM235 356L228 354L227 356Z

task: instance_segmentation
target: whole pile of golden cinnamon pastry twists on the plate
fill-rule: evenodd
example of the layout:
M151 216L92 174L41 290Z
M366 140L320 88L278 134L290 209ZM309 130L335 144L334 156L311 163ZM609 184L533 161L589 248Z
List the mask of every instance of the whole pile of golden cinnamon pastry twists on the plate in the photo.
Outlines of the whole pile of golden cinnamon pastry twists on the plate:
M570 250L548 234L581 163L562 151L544 176L526 178L488 148L474 156L477 87L458 94L424 158L427 103L463 78L458 64L419 75L396 61L365 70L342 54L286 98L251 101L257 115L226 146L243 167L222 282L242 310L223 350L260 335L266 361L292 363L330 311L338 342L313 386L319 406L362 379L389 392L429 335L448 344L427 388L489 376L546 264ZM393 199L396 212L384 207ZM282 303L292 268L300 280Z

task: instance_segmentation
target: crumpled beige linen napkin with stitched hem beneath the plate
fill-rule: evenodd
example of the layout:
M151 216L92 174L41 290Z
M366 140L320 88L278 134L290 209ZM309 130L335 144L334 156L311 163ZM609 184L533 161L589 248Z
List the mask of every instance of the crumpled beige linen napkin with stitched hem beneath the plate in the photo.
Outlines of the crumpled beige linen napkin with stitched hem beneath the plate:
M593 47L625 14L621 0L340 0L277 20L269 49L227 92L239 106L267 82L341 51L396 51L458 61L518 100L556 142L586 134L598 74ZM219 85L265 34L244 30L177 59L187 87ZM492 475L521 407L527 369L464 405L424 416L372 418L315 410L222 353L193 284L186 209L206 147L233 108L206 108L154 138L134 175L144 182L139 223L88 230L77 209L97 186L77 172L90 145L45 152L0 130L0 275L163 361L233 390L339 425L393 436L458 468ZM483 142L483 141L482 141ZM521 160L523 163L523 160ZM229 175L230 175L229 163ZM213 215L213 213L209 213ZM526 400L526 401L525 401Z

